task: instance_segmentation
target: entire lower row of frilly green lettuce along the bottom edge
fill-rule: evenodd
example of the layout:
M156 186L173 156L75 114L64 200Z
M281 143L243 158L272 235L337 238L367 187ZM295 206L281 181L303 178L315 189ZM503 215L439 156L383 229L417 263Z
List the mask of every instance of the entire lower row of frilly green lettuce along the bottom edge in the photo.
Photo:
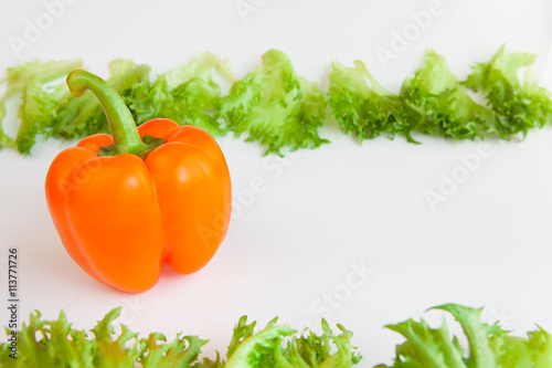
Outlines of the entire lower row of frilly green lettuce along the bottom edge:
M407 319L388 328L402 334L406 341L396 346L394 361L376 368L551 368L552 337L541 327L527 337L513 336L499 323L481 322L482 308L458 304L434 307L448 312L461 326L464 336L450 333L446 319L432 328L424 319ZM273 319L255 332L255 323L243 316L234 327L226 359L201 356L208 340L197 336L177 335L169 343L162 334L146 338L114 322L120 307L109 312L91 333L76 330L63 311L57 320L42 320L39 312L31 314L29 325L18 333L18 349L10 340L0 344L3 367L278 367L346 368L361 360L352 347L352 333L337 325L336 335L322 319L322 333L297 334ZM8 336L11 332L7 329ZM461 339L461 343L460 343ZM464 343L466 341L466 343ZM464 346L463 346L464 345ZM12 355L12 357L10 357ZM15 357L17 359L13 359Z

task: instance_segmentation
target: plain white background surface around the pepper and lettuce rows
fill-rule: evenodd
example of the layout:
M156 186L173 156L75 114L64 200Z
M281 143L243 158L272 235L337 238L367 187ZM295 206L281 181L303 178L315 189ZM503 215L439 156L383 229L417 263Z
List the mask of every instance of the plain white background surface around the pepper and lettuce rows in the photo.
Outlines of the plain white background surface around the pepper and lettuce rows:
M117 57L162 73L208 50L227 57L243 77L275 48L322 88L332 60L351 65L359 59L397 92L428 48L464 78L471 64L507 44L509 51L537 53L540 84L552 87L550 1L443 0L440 13L386 65L375 50L390 50L395 32L414 24L410 14L427 10L429 1L247 3L256 3L256 11L242 17L235 0L79 0L65 6L20 59L79 56L89 71L107 76L108 62ZM1 2L2 69L18 60L10 38L24 39L26 22L36 24L46 11L41 1ZM9 102L3 122L12 135L17 105L17 98ZM31 157L1 151L0 295L7 299L8 248L19 246L21 320L33 309L55 318L64 308L74 327L92 328L123 306L121 322L131 330L210 338L210 356L226 353L232 327L244 314L258 326L274 316L293 327L318 327L322 317L341 323L353 330L363 367L389 362L403 341L385 324L422 316L438 323L440 313L424 311L444 303L486 306L484 320L502 319L516 334L535 323L552 330L550 127L524 140L487 141L490 157L436 211L424 192L438 191L443 175L459 170L459 156L477 153L479 141L418 136L423 145L401 137L359 145L331 123L320 134L332 143L286 161L263 157L255 144L220 139L234 193L245 196L254 178L262 178L265 190L236 207L208 266L190 276L166 270L157 286L139 295L106 287L81 271L51 222L45 174L53 157L74 143L40 143ZM370 275L360 286L360 278L351 284L349 275L361 265ZM325 304L323 295L341 301ZM7 325L6 308L0 311L0 325Z

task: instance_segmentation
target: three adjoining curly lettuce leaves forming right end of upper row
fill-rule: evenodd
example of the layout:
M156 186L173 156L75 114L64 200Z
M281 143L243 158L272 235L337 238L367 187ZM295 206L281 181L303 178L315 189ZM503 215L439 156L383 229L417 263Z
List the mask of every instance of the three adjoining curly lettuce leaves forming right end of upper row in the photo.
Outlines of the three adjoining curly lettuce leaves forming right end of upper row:
M552 120L551 94L538 85L534 61L534 54L506 53L502 46L460 82L445 59L428 50L399 94L385 90L359 61L354 67L333 62L328 101L341 128L360 140L401 135L417 143L413 133L452 139L526 137ZM476 103L468 91L481 94L486 104Z

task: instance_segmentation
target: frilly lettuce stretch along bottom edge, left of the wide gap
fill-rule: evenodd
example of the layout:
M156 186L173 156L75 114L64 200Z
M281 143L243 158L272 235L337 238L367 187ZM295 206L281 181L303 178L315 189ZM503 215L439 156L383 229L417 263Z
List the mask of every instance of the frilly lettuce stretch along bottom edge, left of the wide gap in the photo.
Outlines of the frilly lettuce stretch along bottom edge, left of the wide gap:
M320 335L305 330L302 335L277 325L277 318L255 332L255 322L248 324L243 316L234 327L226 359L220 354L213 359L201 357L208 340L197 336L177 335L173 341L151 333L139 338L138 334L120 325L115 332L114 322L121 308L110 311L89 333L77 330L67 322L65 313L57 320L41 319L39 312L31 314L28 325L17 333L17 350L10 339L0 344L2 367L193 367L193 368L259 368L259 367L340 367L347 368L361 360L351 345L352 333L341 325L335 335L326 320ZM8 330L8 336L12 336ZM11 356L10 356L11 355Z

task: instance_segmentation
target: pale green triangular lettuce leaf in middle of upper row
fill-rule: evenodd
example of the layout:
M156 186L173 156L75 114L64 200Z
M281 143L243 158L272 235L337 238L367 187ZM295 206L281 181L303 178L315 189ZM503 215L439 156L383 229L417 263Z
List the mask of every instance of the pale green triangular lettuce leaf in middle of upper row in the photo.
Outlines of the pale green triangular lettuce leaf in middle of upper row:
M282 51L269 50L253 73L232 85L222 99L221 116L227 129L246 141L266 147L265 155L282 150L316 148L329 140L318 128L326 117L320 87L296 74Z

